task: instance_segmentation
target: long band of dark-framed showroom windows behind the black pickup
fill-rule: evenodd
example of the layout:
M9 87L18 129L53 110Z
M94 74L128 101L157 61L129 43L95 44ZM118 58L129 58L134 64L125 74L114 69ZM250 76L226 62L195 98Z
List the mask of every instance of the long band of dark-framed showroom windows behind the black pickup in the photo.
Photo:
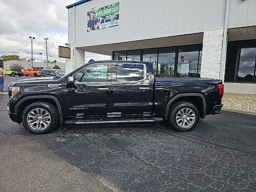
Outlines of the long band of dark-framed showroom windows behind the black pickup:
M126 51L113 52L113 56L121 60ZM128 50L127 60L152 62L156 77L200 77L202 45Z

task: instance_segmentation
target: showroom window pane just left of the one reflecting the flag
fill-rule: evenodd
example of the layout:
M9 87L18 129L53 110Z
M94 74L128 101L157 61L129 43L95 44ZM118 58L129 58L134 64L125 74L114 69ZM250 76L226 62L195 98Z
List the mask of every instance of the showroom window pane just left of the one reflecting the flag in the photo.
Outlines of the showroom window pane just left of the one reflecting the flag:
M174 77L175 47L159 48L158 77Z

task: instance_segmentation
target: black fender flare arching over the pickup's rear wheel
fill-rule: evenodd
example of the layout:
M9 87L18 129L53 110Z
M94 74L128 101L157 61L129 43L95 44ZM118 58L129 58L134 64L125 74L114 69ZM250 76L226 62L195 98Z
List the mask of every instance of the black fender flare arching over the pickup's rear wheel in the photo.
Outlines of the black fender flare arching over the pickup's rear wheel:
M169 109L170 109L170 105L177 99L177 98L180 98L180 97L188 97L188 96L198 96L202 99L202 102L203 102L203 114L202 114L202 119L205 118L206 116L206 100L204 98L204 96L200 93L184 93L184 94L178 94L176 96L174 96L167 104L166 106L166 111L165 111L165 120L168 120L168 113L169 113Z

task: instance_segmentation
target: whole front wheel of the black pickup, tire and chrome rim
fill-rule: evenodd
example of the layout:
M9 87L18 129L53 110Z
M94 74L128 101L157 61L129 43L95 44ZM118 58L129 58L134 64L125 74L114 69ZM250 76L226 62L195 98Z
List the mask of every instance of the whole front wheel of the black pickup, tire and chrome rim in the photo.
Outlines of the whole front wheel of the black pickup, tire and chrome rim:
M21 119L24 128L33 134L46 134L60 126L58 110L48 102L28 105L22 112Z

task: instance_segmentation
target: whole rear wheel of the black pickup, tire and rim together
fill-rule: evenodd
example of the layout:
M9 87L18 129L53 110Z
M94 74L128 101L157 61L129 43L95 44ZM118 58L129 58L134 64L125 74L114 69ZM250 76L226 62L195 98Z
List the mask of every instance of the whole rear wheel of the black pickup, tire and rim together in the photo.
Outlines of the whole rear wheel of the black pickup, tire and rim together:
M184 116L181 116L181 118L180 118L180 114L182 112L184 113L184 111L185 112L190 111L189 109L192 110L192 112L190 112L189 114L194 114L194 117L193 117L194 121L192 119L192 115L191 116L188 115L187 117L185 117L186 115L184 114ZM180 112L180 110L182 110L182 111ZM178 120L176 120L176 117L178 118ZM196 128L199 120L200 120L200 114L199 114L198 108L190 102L184 102L184 101L178 102L170 108L169 113L168 113L168 121L169 121L170 125L174 129L176 129L178 131L182 131L182 132L190 131L190 130L193 130L194 128ZM180 126L178 124L179 122L181 122L181 124L182 124L182 122L185 122L185 124L183 124L184 127L182 127L182 125ZM191 125L189 125L188 122L191 122ZM188 127L186 127L186 126L188 126Z

